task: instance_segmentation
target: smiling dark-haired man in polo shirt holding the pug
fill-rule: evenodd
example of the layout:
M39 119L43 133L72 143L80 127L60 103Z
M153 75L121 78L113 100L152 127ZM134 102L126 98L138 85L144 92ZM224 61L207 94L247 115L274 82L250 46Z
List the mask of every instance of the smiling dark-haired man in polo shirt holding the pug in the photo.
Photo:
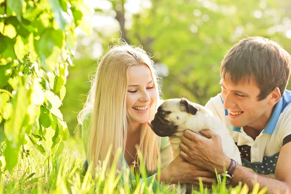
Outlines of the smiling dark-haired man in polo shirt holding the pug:
M252 189L256 179L269 193L291 192L291 91L285 90L290 64L290 54L266 38L234 45L221 63L222 92L206 107L230 130L242 166L226 157L220 136L210 130L201 132L207 138L186 130L180 155L212 172L230 171L233 186L242 182Z

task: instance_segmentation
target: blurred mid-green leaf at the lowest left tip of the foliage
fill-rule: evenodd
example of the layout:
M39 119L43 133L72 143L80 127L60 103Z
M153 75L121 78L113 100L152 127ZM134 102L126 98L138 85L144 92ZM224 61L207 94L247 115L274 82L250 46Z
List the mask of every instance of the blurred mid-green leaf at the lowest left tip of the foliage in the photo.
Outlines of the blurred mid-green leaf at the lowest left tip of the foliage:
M10 142L6 143L5 148L5 162L6 162L6 168L11 173L12 169L16 166L18 161L18 152L19 147L17 146L15 148L12 148L10 145Z

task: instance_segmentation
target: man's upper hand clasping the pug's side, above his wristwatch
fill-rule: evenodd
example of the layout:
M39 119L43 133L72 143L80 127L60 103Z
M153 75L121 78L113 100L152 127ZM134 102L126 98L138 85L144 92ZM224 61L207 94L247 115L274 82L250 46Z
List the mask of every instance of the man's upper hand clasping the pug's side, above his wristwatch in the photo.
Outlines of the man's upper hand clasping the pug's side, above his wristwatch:
M201 130L200 133L207 137L185 130L181 137L180 156L200 168L220 174L230 165L230 159L224 154L221 137L210 131Z

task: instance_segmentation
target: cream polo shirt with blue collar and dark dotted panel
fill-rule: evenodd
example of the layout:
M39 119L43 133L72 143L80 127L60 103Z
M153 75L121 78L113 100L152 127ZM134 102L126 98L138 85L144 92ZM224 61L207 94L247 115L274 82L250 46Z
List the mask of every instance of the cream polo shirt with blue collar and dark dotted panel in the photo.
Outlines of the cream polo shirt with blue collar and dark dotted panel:
M255 140L243 128L230 125L228 112L223 108L221 94L210 98L205 107L218 116L238 146L242 165L264 175L275 174L276 164L282 146L291 142L291 91L286 90L275 105L268 124Z

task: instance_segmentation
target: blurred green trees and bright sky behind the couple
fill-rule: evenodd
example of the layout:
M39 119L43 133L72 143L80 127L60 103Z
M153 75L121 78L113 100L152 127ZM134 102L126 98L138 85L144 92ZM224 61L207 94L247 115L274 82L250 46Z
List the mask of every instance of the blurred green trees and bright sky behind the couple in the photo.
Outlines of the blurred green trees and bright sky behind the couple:
M60 108L73 135L80 135L77 114L90 89L97 59L112 38L142 45L155 64L167 67L167 76L160 74L163 99L187 97L202 105L220 93L220 62L242 38L263 36L291 53L290 0L85 2L95 10L86 24L93 25L93 30L90 36L78 32L74 66L69 66Z

